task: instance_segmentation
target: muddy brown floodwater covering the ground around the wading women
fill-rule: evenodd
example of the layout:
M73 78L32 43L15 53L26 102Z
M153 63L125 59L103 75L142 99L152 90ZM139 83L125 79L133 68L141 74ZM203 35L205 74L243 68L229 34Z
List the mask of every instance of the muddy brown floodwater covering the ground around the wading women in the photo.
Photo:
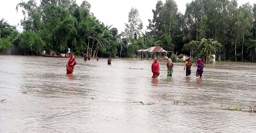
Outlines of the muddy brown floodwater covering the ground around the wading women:
M256 104L256 64L206 64L185 76L174 63L150 78L153 61L0 55L0 132L255 133L256 113L223 110ZM27 93L23 93L27 92ZM198 105L174 105L177 100ZM136 103L154 102L153 105Z

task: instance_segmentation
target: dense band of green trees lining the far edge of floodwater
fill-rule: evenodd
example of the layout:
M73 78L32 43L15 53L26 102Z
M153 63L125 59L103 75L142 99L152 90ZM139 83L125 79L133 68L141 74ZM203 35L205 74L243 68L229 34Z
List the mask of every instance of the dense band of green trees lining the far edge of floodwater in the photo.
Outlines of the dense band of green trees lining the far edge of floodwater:
M104 25L91 5L75 0L35 0L20 2L20 21L24 31L18 33L4 19L0 21L0 50L20 47L24 54L36 55L42 50L77 55L136 57L136 51L161 46L167 51L201 57L209 62L211 54L222 60L256 61L256 4L237 0L194 0L186 12L178 12L174 0L158 1L147 31L137 9L128 15L125 31ZM169 55L171 56L171 55Z

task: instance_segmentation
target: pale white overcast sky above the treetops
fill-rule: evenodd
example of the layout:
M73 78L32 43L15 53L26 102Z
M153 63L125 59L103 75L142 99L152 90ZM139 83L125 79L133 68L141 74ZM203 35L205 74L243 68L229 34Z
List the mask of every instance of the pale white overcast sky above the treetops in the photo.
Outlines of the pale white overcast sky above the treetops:
M24 0L28 1L28 0ZM40 3L40 0L36 0ZM83 0L76 0L80 5ZM144 29L148 25L148 19L153 18L152 9L155 9L158 0L87 0L91 4L91 12L102 21L104 24L113 25L118 29L119 33L124 31L125 23L128 21L128 12L130 9L137 8L139 10L140 18L143 21ZM165 0L162 0L165 1ZM185 13L186 3L192 0L175 0L179 11ZM20 19L23 19L21 12L16 12L15 8L20 0L0 0L0 19L8 20L11 25L18 25ZM255 0L238 0L238 4L250 2L256 3ZM22 28L17 27L19 31Z

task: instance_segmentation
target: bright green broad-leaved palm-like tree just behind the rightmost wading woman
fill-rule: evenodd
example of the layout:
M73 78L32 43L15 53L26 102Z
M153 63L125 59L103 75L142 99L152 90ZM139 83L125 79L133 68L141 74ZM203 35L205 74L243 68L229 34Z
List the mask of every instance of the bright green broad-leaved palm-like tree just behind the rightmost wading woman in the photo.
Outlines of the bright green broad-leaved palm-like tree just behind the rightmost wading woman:
M216 54L217 49L221 48L222 44L213 39L201 39L198 45L198 50L200 51L200 56L205 63L210 63L211 54Z

